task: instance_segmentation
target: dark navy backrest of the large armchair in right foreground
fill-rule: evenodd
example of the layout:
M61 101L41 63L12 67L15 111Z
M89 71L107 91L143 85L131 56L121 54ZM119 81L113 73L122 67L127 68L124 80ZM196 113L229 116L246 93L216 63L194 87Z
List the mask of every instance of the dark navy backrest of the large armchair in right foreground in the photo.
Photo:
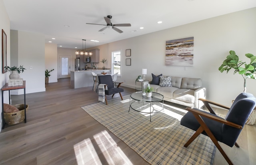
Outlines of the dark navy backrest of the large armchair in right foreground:
M255 107L255 102L256 98L251 93L240 93L234 100L225 119L244 127L244 124ZM227 145L233 146L241 131L242 129L223 124L222 138L225 144L228 143Z

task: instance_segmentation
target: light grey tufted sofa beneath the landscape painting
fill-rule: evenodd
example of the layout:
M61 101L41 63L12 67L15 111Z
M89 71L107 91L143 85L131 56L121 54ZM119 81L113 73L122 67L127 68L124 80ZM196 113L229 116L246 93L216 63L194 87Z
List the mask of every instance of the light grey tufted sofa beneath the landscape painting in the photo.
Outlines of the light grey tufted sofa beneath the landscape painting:
M154 79L154 76L152 74ZM160 75L157 76L160 78ZM167 76L162 76L166 78ZM171 77L171 86L160 86L156 84L156 80L152 80L155 84L150 84L150 87L154 88L154 91L164 95L164 100L188 107L200 108L202 101L199 98L206 99L206 88L202 87L202 80L200 78L182 78L182 77ZM150 82L151 83L151 82Z

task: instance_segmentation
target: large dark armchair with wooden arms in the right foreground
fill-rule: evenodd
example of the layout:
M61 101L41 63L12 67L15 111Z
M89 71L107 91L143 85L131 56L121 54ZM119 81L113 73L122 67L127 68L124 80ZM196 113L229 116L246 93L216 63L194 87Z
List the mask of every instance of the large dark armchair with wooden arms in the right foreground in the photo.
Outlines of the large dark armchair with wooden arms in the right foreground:
M236 97L230 108L205 99L200 100L203 101L210 113L196 108L186 108L188 113L182 117L180 124L193 129L196 132L184 147L188 147L188 145L202 133L210 137L228 164L233 165L228 155L226 155L224 150L220 147L218 141L230 147L233 147L234 145L239 147L236 140L238 139L250 113L252 113L252 110L255 107L256 98L250 93L241 93ZM221 117L218 117L209 104L229 109L226 118L222 119Z

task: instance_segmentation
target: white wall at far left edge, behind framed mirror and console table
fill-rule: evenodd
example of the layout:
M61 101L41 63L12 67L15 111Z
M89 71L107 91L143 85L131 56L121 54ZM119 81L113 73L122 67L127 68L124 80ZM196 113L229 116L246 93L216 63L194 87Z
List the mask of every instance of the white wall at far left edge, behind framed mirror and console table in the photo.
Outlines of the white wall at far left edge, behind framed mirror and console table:
M6 9L4 7L4 2L0 0L0 50L2 52L2 29L6 33L6 39L7 39L7 65L10 65L10 19L9 16L6 12ZM1 65L1 71L0 71L0 88L2 88L9 80L9 72L2 74L2 53L1 53L1 58L0 58L0 65ZM0 92L0 109L2 112L2 92ZM4 92L4 103L9 103L8 99L8 92ZM2 115L0 116L0 131L2 129Z

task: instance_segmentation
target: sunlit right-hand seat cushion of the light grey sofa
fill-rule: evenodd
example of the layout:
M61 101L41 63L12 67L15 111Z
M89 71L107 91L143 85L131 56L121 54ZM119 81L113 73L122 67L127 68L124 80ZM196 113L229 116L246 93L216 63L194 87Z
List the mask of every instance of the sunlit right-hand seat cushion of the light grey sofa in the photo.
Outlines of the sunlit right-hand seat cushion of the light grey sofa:
M188 103L194 103L195 97L194 97L195 91L192 89L177 89L173 92L173 99L177 99L180 101L185 101Z

